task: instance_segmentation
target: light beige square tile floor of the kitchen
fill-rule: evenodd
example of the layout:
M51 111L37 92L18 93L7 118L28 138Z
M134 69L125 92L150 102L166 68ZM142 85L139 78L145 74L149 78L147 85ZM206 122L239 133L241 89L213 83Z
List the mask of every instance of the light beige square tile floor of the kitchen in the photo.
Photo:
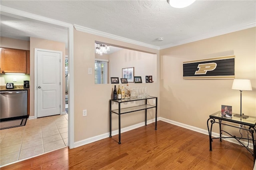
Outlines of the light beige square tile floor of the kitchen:
M27 120L0 130L0 166L68 145L68 114Z

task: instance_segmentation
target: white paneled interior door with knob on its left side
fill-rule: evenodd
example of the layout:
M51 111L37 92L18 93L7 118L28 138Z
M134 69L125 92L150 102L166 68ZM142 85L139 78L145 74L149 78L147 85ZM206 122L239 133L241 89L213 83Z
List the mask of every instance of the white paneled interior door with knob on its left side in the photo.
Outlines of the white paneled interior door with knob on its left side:
M60 56L37 51L37 117L60 115Z

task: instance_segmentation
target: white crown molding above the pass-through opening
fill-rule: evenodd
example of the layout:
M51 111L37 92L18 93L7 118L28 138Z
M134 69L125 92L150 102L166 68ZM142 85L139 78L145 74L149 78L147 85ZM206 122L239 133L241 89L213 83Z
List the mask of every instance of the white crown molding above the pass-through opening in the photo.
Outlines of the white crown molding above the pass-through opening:
M158 49L158 50L160 49L160 47L156 46L156 45L150 45L150 44L147 44L147 43L138 42L138 41L135 41L135 40L131 40L131 39L128 39L128 38L116 36L116 35L113 35L113 34L108 34L106 32L93 30L91 28L86 28L86 27L79 26L79 25L76 25L76 24L74 24L74 28L77 31L86 32L86 33L89 33L89 34L94 34L96 36L102 36L102 37L105 37L105 38L110 38L110 39L113 39L113 40L118 40L118 41L122 41L122 42L126 42L126 43L132 43L132 44L135 44L135 45L140 45L140 46L148 47L148 48L152 48L152 49Z

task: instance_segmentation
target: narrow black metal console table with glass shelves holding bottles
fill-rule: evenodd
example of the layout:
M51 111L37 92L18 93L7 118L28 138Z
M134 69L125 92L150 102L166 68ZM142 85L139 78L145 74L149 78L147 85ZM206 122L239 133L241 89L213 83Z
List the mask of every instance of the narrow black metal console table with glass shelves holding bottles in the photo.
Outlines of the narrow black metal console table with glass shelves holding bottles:
M155 99L156 100L156 104L155 105L148 105L147 101L148 99ZM138 106L134 106L134 107L127 107L127 108L121 108L121 103L125 103L125 102L132 102L132 101L141 101L144 100L145 104L144 105L138 105ZM118 109L112 110L111 106L112 106L112 102L116 102L118 103ZM115 113L118 115L118 134L119 134L119 142L118 144L121 144L121 115L122 114L126 114L126 113L131 113L131 112L136 112L136 111L142 111L145 110L145 126L147 125L147 109L151 109L151 108L156 108L156 122L155 122L155 130L157 130L156 125L157 125L157 97L152 97L152 96L148 96L145 99L120 99L120 100L109 100L109 127L110 127L110 135L111 136L111 132L112 132L112 120L111 120L111 113Z

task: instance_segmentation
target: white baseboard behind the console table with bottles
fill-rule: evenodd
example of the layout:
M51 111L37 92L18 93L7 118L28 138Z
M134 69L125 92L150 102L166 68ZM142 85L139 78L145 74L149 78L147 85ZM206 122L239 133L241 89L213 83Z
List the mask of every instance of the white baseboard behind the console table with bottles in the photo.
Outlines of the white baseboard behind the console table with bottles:
M148 120L147 121L147 125L150 124L150 123L154 123L155 122L155 119L151 119L151 120ZM143 127L145 126L145 122L142 122L142 123L138 123L136 125L132 125L132 126L129 126L129 127L125 127L125 128L121 128L121 133L123 132L127 132L129 130L132 130L132 129L135 129L135 128L139 128L139 127ZM113 130L111 132L111 135L114 136L118 134L118 130ZM83 146L85 144L89 144L89 143L92 143L92 142L96 142L98 140L102 140L104 138L109 138L109 132L107 133L104 133L104 134L100 134L98 136L93 136L93 137L90 137L90 138L87 138L87 139L84 139L84 140L80 140L78 142L75 142L74 143L74 147L77 148L79 146ZM122 140L121 140L122 142Z

